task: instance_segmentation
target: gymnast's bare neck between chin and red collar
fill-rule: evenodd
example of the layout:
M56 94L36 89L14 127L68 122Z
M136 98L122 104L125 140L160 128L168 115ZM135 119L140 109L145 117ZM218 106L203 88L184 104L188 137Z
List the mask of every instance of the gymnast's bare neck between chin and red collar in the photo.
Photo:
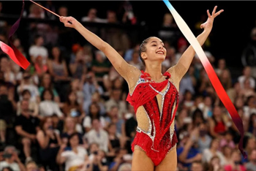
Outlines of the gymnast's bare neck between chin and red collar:
M153 80L162 78L162 65L161 64L148 64L145 72L147 72Z

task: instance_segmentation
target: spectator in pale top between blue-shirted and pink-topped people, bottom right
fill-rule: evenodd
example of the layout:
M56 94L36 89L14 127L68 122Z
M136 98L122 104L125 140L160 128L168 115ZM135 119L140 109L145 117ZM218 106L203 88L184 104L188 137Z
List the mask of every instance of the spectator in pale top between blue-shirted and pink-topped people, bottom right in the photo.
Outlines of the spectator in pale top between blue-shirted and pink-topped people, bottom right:
M225 157L223 156L223 154L219 151L219 140L218 139L214 139L211 141L211 145L210 145L210 148L206 148L204 151L203 151L203 156L202 156L202 159L203 159L203 162L206 161L206 162L209 162L211 161L211 158L213 156L218 156L219 159L220 159L220 164L222 166L224 166L226 163L225 163Z

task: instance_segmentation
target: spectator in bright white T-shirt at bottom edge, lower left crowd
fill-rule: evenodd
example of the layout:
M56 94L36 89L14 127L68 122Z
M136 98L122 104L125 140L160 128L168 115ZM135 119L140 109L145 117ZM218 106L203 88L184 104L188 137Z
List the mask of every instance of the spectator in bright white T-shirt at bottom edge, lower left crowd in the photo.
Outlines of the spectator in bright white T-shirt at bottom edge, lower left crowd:
M65 163L65 171L78 169L88 160L88 153L83 146L79 145L78 133L71 134L67 147L61 145L56 161L58 164ZM75 169L76 168L76 169Z

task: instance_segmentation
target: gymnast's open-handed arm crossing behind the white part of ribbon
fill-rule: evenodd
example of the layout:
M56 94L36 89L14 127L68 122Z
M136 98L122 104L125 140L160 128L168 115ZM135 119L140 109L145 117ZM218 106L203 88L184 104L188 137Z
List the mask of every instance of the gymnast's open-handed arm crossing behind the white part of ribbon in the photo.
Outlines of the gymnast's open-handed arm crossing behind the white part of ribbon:
M208 20L206 21L206 23L203 23L201 25L201 28L204 28L204 30L203 30L203 33L197 37L197 41L200 43L201 46L204 44L204 42L206 42L206 39L211 32L211 28L214 23L214 18L216 18L221 12L224 11L222 9L222 10L219 10L219 12L215 13L216 9L217 9L217 6L214 7L214 11L212 12L212 15L210 15L209 10L207 10ZM187 48L187 50L183 53L181 58L179 59L178 64L168 69L168 72L173 72L173 71L176 72L178 79L181 80L181 78L186 74L187 70L189 69L189 66L194 56L195 56L195 50L190 45Z

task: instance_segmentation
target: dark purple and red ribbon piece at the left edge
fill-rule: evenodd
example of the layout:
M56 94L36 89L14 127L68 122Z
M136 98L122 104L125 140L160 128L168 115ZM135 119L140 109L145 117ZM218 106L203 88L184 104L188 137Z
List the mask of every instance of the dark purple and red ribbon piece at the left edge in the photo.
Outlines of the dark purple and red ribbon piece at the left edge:
M29 61L26 59L25 56L22 55L22 53L20 53L20 51L15 47L15 45L12 44L12 35L15 34L15 32L17 31L20 25L20 19L23 15L23 10L24 10L24 1L23 1L21 12L20 12L20 18L18 18L18 20L13 24L12 28L10 29L9 42L11 47L1 41L0 41L0 47L4 53L7 53L7 55L10 56L10 58L12 58L12 61L14 61L19 66L21 66L23 69L26 69L29 66Z

